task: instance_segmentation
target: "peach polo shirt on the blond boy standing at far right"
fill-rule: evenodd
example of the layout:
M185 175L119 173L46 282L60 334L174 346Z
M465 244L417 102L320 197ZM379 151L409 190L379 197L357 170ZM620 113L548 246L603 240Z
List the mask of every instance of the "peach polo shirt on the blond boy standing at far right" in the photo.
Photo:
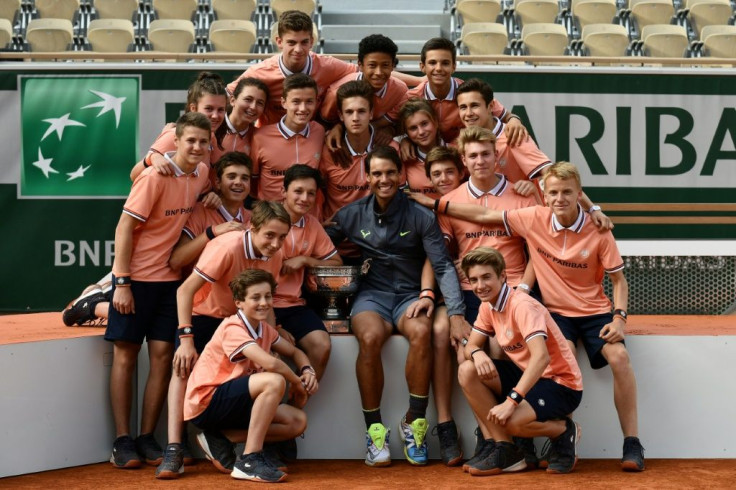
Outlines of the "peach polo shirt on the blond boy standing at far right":
M599 231L580 205L569 228L544 206L504 211L503 219L510 235L526 239L549 311L571 317L611 311L603 274L623 270L624 261L613 234Z

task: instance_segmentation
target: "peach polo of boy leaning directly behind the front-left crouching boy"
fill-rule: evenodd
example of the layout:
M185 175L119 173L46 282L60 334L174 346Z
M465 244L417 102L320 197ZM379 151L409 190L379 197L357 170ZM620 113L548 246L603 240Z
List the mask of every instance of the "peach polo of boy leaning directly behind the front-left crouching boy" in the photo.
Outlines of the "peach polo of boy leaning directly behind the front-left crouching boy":
M225 233L205 245L194 266L206 282L194 294L192 313L225 318L235 313L230 281L246 269L261 269L273 274L279 281L281 250L273 257L260 256L253 247L250 230L243 233Z

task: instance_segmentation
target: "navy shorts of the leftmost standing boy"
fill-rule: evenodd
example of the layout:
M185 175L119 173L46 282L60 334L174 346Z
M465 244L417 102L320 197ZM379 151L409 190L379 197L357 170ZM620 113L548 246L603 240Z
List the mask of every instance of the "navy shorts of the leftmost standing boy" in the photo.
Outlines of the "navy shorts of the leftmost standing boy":
M113 294L115 277L113 276ZM142 344L143 339L174 342L179 320L176 290L181 281L131 281L135 313L123 315L110 303L105 340Z

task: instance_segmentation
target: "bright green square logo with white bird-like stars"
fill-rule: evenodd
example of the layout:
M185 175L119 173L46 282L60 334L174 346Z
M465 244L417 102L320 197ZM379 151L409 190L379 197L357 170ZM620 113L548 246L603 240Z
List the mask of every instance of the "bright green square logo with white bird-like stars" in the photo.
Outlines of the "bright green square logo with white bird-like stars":
M138 77L23 77L19 197L125 197Z

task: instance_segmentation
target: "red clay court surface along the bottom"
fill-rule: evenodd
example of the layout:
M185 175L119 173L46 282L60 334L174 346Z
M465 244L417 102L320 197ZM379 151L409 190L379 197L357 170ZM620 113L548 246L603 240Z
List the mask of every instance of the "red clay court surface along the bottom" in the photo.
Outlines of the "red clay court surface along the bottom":
M703 441L704 442L704 441ZM624 473L614 460L581 460L569 475L547 475L541 470L490 477L472 477L460 468L432 462L416 468L394 461L389 468L368 468L362 461L298 461L289 478L277 488L309 489L468 489L468 488L736 488L734 459L653 459L643 473ZM109 463L47 471L0 479L4 488L169 488L198 489L251 487L218 473L207 461L188 467L178 480L159 481L152 466L139 470L116 470Z

